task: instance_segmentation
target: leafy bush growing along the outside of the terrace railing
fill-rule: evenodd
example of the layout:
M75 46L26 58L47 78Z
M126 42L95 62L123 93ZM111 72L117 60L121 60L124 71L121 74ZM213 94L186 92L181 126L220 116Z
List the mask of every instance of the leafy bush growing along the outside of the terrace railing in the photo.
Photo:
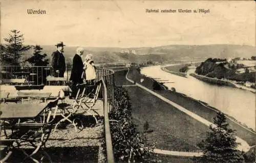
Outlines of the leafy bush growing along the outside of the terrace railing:
M115 87L115 109L110 113L114 156L117 162L149 162L154 144L137 131L132 120L131 102L127 91Z

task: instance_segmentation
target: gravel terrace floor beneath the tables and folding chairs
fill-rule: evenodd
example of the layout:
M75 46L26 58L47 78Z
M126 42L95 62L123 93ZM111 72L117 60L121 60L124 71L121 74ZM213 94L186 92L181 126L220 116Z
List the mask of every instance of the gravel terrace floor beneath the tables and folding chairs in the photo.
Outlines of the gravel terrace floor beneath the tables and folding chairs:
M67 97L63 103L72 104L73 100ZM97 100L94 109L99 114L96 116L98 124L95 123L93 116L87 113L79 115L84 127L82 130L78 129L76 132L72 124L63 122L56 131L51 132L45 151L53 162L105 162L103 101ZM14 151L7 162L21 162L24 156L21 151Z

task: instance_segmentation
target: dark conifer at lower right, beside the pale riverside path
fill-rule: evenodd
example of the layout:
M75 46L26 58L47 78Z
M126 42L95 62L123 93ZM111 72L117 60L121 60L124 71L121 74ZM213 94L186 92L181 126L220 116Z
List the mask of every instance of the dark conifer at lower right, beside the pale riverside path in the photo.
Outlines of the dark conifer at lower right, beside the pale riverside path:
M210 125L210 132L207 132L206 140L198 144L203 151L203 161L207 162L243 162L242 152L237 150L239 143L236 142L236 130L228 128L226 117L219 112L214 118L213 127Z

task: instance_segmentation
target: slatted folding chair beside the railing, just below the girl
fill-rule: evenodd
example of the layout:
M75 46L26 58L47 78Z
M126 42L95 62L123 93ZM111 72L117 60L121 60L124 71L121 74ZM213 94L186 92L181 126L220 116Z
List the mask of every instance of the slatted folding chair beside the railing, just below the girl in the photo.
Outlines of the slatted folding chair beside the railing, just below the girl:
M98 124L98 120L95 117L94 113L96 113L97 115L99 114L93 109L93 106L96 104L99 96L101 81L97 82L95 85L87 86L86 88L87 94L81 99L80 106L84 109L83 105L85 105L87 108L86 111L84 111L83 113L91 113L96 121L96 124Z

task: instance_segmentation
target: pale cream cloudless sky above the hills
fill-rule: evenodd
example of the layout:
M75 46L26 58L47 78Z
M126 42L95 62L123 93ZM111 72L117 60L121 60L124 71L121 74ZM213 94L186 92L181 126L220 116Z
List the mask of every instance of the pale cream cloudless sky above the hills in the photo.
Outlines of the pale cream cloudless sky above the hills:
M45 10L30 15L28 9ZM209 13L146 13L146 9L210 9ZM3 1L1 43L10 30L25 44L143 47L171 44L255 46L253 1Z

